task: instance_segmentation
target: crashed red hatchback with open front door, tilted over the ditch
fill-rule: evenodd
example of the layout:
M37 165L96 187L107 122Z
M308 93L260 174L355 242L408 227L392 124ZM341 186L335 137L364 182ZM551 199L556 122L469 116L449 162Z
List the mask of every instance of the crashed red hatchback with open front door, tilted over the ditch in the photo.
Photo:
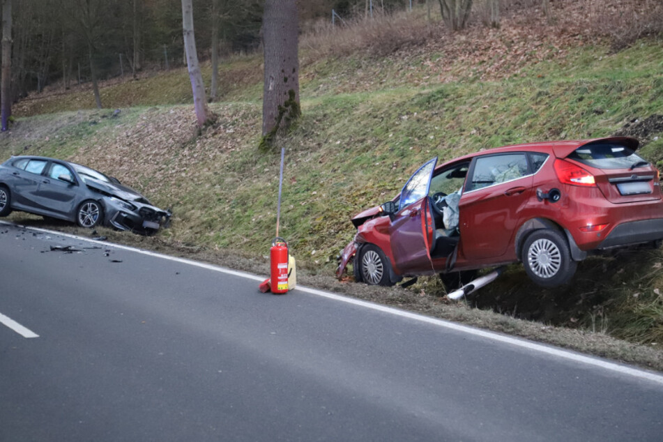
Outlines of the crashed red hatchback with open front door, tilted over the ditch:
M475 270L522 261L542 287L574 275L588 254L663 241L660 172L610 137L489 149L436 167L352 218L337 277L392 285L439 273L448 287ZM474 271L473 271L474 270Z

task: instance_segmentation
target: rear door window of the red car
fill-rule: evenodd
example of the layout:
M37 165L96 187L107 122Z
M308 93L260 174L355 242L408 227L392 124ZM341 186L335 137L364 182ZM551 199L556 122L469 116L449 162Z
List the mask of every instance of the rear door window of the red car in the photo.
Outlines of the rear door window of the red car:
M527 158L524 153L485 155L477 158L468 190L486 188L526 176Z

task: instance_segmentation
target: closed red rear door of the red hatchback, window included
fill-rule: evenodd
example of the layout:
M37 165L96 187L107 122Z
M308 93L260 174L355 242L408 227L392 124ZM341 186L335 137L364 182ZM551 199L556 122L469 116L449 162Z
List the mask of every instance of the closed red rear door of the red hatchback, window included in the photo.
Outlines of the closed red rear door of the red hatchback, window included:
M460 246L464 257L503 256L532 192L524 152L475 157L459 203Z

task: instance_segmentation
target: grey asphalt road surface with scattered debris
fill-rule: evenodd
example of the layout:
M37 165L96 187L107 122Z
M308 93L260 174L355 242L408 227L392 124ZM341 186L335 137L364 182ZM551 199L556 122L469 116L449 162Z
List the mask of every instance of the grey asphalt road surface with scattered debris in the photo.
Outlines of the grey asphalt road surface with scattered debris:
M663 376L257 286L0 224L0 441L662 438Z

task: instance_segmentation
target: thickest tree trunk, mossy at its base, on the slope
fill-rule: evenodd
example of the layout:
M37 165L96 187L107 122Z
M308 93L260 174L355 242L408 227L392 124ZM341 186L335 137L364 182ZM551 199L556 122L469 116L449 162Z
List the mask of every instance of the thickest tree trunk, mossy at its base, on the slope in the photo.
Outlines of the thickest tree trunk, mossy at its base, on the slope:
M262 135L267 142L300 114L296 0L266 0L263 16L265 83Z

